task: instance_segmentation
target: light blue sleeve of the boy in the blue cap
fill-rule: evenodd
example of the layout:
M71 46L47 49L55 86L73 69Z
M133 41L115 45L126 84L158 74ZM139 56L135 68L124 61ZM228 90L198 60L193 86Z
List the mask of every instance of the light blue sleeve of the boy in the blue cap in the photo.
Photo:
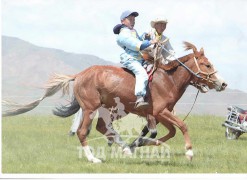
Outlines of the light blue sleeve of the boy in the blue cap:
M138 37L135 37L132 33L136 33L136 32L131 31L130 29L127 28L122 28L121 32L117 37L117 43L121 47L128 48L132 51L139 51L142 41L140 41Z

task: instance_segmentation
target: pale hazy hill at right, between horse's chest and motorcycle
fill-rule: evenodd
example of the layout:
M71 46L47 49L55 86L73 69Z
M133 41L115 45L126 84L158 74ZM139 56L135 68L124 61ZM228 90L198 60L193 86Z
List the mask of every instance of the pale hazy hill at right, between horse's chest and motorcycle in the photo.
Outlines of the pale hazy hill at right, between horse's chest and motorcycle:
M178 101L175 109L179 114L187 114L196 98L197 89L188 87L185 94ZM225 116L227 107L237 105L247 109L247 93L227 88L225 91L210 90L199 93L191 114L211 114Z

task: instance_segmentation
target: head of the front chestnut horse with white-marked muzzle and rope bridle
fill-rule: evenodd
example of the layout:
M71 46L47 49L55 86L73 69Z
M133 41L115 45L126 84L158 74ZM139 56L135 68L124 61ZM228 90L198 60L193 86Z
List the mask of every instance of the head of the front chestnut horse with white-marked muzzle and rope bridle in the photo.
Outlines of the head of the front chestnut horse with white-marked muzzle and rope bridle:
M192 49L194 53L194 66L192 71L197 75L191 80L191 84L205 93L208 89L215 89L216 91L223 91L227 83L217 75L213 64L208 60L204 54L203 48L197 51L197 48L188 42L184 42L185 50Z

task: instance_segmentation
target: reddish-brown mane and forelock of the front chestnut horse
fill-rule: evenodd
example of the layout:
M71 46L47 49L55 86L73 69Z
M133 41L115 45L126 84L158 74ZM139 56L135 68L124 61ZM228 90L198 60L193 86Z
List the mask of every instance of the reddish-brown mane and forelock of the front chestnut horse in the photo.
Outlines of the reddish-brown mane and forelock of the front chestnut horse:
M183 44L184 44L185 51L188 51L190 49L192 49L193 52L197 51L196 47L193 44L186 42L186 41L184 41ZM185 55L183 57L178 58L178 60L182 63L185 63L189 59L191 59L193 56L194 56L194 54L188 54L188 55ZM164 69L166 71L171 71L171 70L177 68L179 65L180 65L180 63L178 61L174 60L174 61L169 62L166 65L160 63L158 67L161 69Z

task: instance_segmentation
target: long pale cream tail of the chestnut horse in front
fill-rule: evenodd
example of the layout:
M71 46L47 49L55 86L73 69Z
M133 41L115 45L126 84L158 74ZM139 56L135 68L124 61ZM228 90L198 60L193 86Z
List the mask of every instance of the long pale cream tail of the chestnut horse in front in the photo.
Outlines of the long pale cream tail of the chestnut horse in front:
M15 116L18 114L23 114L28 112L39 105L39 103L45 99L46 97L52 96L57 93L59 90L62 89L63 96L65 94L69 94L69 83L70 81L74 81L76 76L67 76L61 74L54 74L47 84L45 85L44 89L46 89L45 94L43 97L33 101L29 104L17 104L9 101L3 101L3 105L10 107L9 110L3 111L2 116Z

